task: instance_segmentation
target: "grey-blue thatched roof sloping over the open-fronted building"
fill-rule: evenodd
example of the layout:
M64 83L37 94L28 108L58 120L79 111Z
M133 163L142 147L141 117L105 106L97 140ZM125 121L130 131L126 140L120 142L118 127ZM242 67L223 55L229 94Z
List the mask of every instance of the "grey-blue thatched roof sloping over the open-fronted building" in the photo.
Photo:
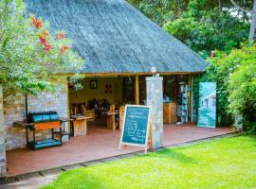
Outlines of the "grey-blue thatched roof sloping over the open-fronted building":
M64 30L84 73L201 72L205 61L123 0L26 0L28 12Z

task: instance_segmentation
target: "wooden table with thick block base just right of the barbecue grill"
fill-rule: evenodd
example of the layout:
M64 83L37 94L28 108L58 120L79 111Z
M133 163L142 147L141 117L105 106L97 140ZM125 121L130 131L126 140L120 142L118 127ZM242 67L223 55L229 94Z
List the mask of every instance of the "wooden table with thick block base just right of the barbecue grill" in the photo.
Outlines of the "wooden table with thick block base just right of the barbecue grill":
M85 115L74 115L72 116L74 119L74 136L84 136L87 134L87 119L90 117Z

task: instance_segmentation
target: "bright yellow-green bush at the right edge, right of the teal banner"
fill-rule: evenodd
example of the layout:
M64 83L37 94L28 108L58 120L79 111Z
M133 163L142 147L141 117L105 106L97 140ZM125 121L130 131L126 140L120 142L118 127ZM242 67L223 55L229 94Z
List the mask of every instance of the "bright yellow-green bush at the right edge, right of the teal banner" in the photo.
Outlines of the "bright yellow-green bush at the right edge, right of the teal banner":
M229 77L229 112L242 113L244 124L256 132L256 45L233 50L228 62L234 62Z

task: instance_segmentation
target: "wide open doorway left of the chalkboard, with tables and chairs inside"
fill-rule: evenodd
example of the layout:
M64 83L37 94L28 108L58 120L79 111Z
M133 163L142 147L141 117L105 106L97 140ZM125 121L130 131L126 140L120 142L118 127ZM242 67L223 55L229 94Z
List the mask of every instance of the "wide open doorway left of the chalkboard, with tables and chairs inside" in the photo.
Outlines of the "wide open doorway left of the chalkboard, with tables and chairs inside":
M120 129L123 106L133 103L133 90L133 79L129 77L85 77L81 90L69 88L69 113L74 119L70 126L71 135L87 135L99 129ZM85 133L76 130L82 125L86 127Z

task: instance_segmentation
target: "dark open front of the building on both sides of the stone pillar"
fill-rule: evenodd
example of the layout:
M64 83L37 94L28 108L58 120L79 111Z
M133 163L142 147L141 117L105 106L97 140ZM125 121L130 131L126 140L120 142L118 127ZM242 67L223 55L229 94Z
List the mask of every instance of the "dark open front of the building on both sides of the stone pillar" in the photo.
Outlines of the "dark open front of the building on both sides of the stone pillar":
M138 77L138 102L146 104L146 78ZM85 77L82 90L69 88L69 112L72 116L87 116L87 128L120 129L119 109L125 104L136 104L136 79L134 76ZM164 123L187 123L192 120L192 90L189 75L169 75L163 77ZM116 114L109 115L114 107ZM112 118L111 118L112 116ZM112 120L112 121L111 121ZM112 126L111 126L112 125ZM74 129L71 126L71 133Z

